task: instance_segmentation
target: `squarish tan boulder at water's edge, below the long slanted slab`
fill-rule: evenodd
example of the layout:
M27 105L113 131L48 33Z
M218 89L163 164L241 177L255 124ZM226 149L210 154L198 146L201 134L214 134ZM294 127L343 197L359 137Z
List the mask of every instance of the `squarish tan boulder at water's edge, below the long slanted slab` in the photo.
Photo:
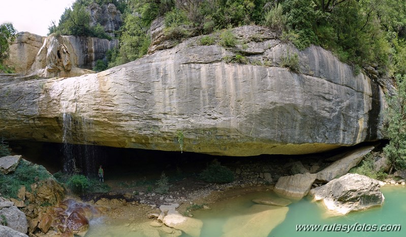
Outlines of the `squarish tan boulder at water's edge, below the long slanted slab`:
M273 191L283 196L301 199L307 195L315 180L316 174L309 173L283 176L278 179Z

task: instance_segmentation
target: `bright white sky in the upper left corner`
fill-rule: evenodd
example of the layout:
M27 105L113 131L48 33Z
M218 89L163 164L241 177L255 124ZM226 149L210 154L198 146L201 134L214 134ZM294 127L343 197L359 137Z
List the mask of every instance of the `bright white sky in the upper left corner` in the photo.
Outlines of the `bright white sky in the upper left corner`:
M17 31L28 31L40 36L48 34L51 21L56 24L65 8L75 0L0 0L0 24L13 23Z

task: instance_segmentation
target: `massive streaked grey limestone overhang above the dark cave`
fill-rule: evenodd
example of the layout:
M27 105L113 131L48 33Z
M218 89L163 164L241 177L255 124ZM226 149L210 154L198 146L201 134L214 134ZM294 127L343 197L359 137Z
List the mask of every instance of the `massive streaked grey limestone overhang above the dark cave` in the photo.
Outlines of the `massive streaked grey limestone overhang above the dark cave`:
M382 138L377 83L320 47L298 51L258 26L234 32L246 42L237 46L244 63L235 49L200 46L197 37L98 74L0 79L0 134L233 156ZM300 73L278 66L293 53Z

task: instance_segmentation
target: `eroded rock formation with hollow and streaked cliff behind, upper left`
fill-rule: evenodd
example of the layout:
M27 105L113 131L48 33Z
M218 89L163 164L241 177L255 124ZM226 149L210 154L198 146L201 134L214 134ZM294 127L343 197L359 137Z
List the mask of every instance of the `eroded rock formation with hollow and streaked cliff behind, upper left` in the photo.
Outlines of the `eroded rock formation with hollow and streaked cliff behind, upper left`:
M94 37L50 35L44 41L28 74L41 77L74 77L93 73L90 71L98 59L118 40Z

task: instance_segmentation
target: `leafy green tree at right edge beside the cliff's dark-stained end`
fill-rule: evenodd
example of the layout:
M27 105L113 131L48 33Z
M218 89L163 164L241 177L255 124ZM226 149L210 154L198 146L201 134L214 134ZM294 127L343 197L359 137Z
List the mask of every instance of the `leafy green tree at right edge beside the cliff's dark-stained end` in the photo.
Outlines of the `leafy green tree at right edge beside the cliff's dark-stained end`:
M384 152L392 170L406 168L406 76L397 75L397 94L388 99L386 120L388 123L387 135L389 144L384 147Z

